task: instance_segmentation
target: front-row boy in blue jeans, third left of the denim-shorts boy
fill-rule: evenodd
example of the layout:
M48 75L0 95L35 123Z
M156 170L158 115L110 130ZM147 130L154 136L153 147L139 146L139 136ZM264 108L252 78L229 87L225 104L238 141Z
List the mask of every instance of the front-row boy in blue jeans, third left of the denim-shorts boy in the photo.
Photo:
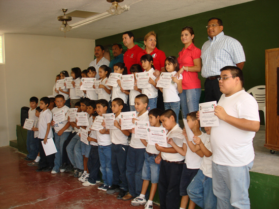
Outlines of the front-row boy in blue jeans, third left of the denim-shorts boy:
M100 74L100 73L99 73ZM105 99L100 99L96 102L97 118L102 118L102 114L107 113L109 103ZM96 138L98 142L98 151L100 159L100 170L102 173L103 184L98 187L99 190L107 191L111 188L113 180L112 171L112 142L110 134L106 129L96 131Z

